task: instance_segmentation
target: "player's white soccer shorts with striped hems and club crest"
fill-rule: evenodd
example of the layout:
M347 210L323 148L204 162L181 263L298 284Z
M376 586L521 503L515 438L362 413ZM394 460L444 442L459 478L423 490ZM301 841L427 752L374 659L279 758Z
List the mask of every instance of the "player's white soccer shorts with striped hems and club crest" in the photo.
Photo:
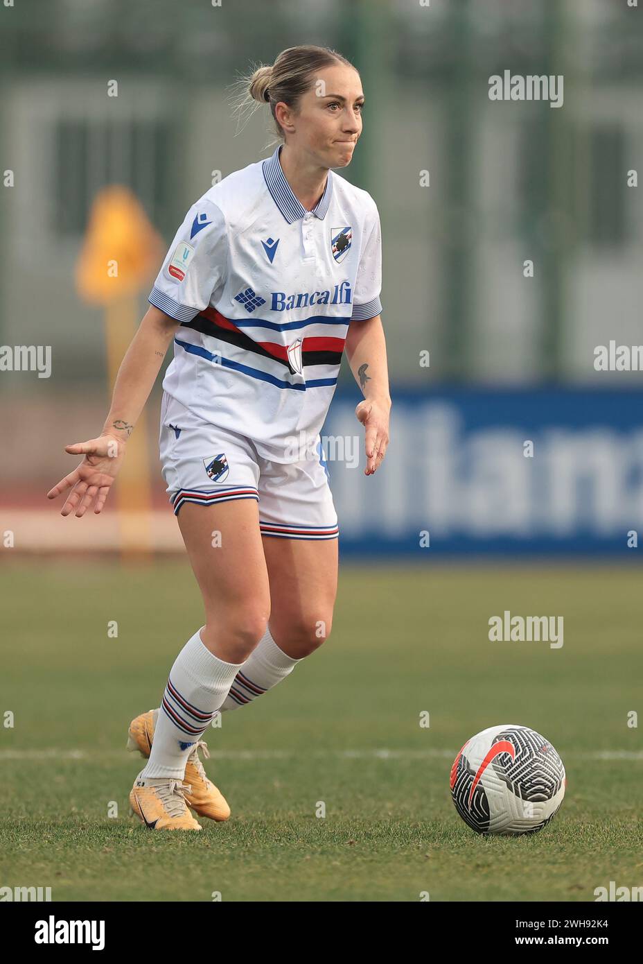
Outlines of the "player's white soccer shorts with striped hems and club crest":
M321 444L317 459L270 462L251 439L204 421L164 391L159 448L175 515L186 502L214 505L254 498L263 536L338 538Z

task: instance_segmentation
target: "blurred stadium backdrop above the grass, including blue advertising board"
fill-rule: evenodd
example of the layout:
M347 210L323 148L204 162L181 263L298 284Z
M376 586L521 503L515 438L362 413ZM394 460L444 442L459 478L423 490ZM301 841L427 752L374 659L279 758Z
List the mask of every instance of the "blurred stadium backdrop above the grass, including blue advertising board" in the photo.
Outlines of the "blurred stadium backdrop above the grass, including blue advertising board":
M395 399L393 442L374 478L363 477L362 454L360 469L347 468L326 445L343 551L417 555L427 530L425 556L627 553L627 532L643 521L640 372L596 371L594 349L641 341L643 201L628 185L643 147L639 12L609 0L177 10L165 0L32 0L3 11L0 136L14 180L1 209L0 343L52 353L48 378L0 378L0 499L14 549L123 540L181 549L157 458L161 379L135 433L149 502L144 485L132 495L133 468L119 487L129 524L118 527L115 499L104 518L70 524L44 494L72 468L64 444L102 425L123 346L185 211L213 172L273 149L264 111L235 136L229 85L311 41L352 59L368 95L364 134L341 173L381 214ZM489 77L507 68L563 74L562 107L491 101ZM141 205L118 221L130 238L126 250L116 245L121 261L144 277L120 308L88 304L76 281L92 204L110 185ZM103 241L111 251L109 231ZM358 436L358 397L345 364L324 435ZM151 526L148 504L160 512Z

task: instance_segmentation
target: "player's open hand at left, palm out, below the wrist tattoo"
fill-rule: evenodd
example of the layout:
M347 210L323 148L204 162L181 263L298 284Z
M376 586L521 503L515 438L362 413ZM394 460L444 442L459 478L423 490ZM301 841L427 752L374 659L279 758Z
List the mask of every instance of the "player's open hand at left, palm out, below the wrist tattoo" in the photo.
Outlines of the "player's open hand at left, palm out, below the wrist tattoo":
M84 455L85 459L47 493L47 498L56 498L71 489L61 509L62 516L68 516L76 509L76 516L80 519L94 498L94 513L97 515L102 510L125 455L125 444L123 439L102 435L89 442L74 442L64 446L64 451L69 455Z

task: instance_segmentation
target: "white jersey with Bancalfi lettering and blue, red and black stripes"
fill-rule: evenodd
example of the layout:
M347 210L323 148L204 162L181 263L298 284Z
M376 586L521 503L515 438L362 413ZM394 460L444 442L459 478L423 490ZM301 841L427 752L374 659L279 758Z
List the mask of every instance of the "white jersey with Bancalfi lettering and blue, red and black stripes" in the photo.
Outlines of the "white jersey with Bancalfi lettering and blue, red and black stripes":
M350 321L382 310L381 234L371 195L333 171L306 211L280 149L193 204L148 300L181 322L167 393L287 462L321 431Z

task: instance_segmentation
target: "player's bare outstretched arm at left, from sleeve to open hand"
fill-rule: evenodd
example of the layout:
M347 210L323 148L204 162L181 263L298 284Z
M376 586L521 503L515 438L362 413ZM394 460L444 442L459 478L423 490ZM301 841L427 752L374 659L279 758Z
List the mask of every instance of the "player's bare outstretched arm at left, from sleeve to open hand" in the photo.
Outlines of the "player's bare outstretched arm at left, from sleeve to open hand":
M47 493L47 498L56 498L71 490L61 510L62 516L68 516L74 509L78 518L84 516L94 498L94 513L102 511L125 455L127 440L178 327L178 321L150 305L118 369L112 407L101 434L88 442L64 446L65 452L84 455L85 459Z

